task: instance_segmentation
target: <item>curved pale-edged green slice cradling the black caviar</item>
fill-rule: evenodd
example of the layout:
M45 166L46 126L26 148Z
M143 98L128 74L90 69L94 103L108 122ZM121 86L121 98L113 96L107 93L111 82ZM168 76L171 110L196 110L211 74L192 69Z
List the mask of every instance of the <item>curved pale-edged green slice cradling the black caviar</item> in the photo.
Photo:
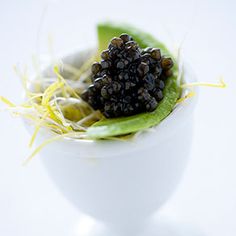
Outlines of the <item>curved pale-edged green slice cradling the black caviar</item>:
M165 45L150 34L144 33L131 26L102 23L98 27L99 51L106 49L109 41L122 33L131 35L141 48L160 48L162 55L171 55ZM141 113L128 117L103 119L96 122L87 130L87 135L93 139L102 139L112 136L125 135L158 125L173 110L180 95L180 87L177 84L177 65L175 63L173 76L168 78L163 91L164 98L153 112Z

